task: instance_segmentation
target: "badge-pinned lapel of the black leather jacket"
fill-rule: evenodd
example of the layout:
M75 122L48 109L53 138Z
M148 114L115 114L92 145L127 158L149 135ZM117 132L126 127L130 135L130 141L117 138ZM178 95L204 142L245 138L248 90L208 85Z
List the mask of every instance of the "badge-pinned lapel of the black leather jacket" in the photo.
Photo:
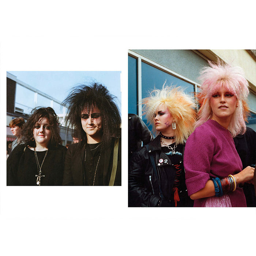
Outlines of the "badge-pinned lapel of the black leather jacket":
M157 167L172 165L169 157L162 152L161 148L160 135L158 135L154 140L148 143L148 154L156 152L155 163Z

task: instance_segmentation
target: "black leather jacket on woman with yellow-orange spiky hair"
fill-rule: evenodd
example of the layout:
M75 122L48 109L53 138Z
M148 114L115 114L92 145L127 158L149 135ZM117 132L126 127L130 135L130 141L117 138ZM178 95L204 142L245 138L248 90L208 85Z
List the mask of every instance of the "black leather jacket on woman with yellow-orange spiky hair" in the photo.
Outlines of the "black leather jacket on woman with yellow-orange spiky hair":
M183 148L184 147L185 144L183 145ZM157 174L151 165L149 154L153 155L154 157ZM161 166L158 166L160 158L163 159L163 162L161 163ZM165 159L168 160L167 163L165 163ZM180 202L178 203L178 206L192 207L193 201L188 197L187 188L185 185L185 172L183 162L181 164L182 171L180 176L180 186L178 187ZM129 206L157 206L158 201L161 200L159 186L159 173L161 168L165 168L165 170L168 172L172 172L172 181L170 183L174 184L176 170L172 165L172 162L170 162L169 157L161 151L160 136L158 135L148 144L148 150L146 146L143 146L139 151L132 155L131 166L128 175L128 189L130 196L129 202L132 202L132 204L130 203ZM164 184L162 184L161 188L165 187L163 185ZM173 197L163 199L162 202L165 202L165 206L174 206Z

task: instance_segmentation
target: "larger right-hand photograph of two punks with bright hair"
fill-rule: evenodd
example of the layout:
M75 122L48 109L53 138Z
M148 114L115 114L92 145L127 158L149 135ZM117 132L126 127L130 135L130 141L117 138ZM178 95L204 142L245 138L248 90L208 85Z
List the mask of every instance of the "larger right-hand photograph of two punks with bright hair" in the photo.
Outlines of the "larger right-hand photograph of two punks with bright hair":
M256 50L128 50L128 207L256 207Z

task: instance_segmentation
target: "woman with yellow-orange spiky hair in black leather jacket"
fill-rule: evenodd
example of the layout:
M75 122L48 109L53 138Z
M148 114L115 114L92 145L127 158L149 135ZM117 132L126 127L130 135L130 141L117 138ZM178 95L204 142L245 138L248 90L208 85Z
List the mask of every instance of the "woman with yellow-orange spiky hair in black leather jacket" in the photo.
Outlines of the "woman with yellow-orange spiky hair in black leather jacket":
M129 169L129 195L141 207L193 206L185 186L183 151L193 130L195 104L180 87L153 90L143 112L159 135L135 152Z

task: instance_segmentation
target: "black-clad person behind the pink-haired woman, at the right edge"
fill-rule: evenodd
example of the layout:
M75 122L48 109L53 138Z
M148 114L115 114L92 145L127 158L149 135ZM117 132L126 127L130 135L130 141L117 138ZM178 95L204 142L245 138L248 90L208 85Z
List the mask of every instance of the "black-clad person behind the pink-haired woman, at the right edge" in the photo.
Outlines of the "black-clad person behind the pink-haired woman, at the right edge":
M256 157L256 132L246 126L246 132L243 135L237 135L234 138L237 153L241 158L244 169L246 166L255 167ZM247 207L256 207L255 188L253 184L244 183L243 186Z

